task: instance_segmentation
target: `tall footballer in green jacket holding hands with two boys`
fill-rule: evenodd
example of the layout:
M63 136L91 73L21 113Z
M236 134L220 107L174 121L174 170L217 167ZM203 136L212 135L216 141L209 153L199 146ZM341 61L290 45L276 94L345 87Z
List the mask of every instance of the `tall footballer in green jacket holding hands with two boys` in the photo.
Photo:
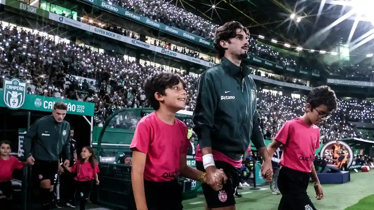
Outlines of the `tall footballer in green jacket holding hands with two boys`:
M263 157L262 175L273 176L256 111L257 90L251 71L242 64L248 53L248 29L239 22L227 22L217 30L215 50L221 63L202 73L199 79L194 131L199 145L196 168L206 176L223 169L229 180L220 191L202 184L208 209L234 210L234 193L240 180L243 154L252 140Z

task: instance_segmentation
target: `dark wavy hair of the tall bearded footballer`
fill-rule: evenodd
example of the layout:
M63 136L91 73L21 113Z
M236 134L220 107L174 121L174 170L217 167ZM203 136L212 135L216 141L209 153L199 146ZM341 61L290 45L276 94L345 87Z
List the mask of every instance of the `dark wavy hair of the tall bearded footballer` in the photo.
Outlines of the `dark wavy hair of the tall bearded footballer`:
M217 29L214 37L214 50L218 53L220 59L225 55L226 50L220 42L223 40L230 43L230 39L236 36L236 29L242 29L249 36L248 29L236 21L227 22Z

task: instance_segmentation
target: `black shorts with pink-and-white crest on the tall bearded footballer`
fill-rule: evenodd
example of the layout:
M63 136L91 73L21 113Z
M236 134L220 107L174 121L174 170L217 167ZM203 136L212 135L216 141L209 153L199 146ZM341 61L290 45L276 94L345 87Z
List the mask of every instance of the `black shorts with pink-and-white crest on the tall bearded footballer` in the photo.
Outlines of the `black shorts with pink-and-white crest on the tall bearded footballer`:
M206 204L209 208L221 208L235 205L235 191L239 186L240 168L232 166L230 163L215 161L217 169L223 169L227 178L226 184L223 184L222 190L215 191L207 184L202 184ZM196 161L196 169L205 172L203 162Z

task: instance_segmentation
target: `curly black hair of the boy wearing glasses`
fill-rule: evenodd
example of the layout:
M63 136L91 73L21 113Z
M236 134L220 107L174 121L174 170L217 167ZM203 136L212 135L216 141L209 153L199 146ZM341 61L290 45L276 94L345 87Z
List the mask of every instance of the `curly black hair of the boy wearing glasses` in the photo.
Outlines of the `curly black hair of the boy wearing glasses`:
M306 103L310 104L311 109L326 105L329 111L333 111L337 107L335 92L327 85L313 88L306 98Z

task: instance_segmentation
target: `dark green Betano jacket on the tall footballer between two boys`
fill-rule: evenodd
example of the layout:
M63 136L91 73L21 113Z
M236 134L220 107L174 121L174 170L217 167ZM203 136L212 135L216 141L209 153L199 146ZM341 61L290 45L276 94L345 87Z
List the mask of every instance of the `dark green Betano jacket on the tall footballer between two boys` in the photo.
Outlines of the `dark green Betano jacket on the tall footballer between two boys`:
M251 70L226 57L200 75L194 132L200 148L212 147L233 160L242 159L250 140L265 147L256 110L257 91Z

